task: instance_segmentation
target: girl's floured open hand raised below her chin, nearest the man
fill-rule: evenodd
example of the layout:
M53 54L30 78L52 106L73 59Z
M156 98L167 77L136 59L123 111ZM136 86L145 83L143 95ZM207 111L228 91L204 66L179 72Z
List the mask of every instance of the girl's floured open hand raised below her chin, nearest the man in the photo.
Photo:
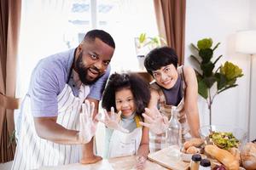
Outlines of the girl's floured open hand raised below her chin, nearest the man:
M105 117L104 117L104 119L102 119L102 117L97 117L99 122L104 123L105 126L107 126L108 128L119 130L122 133L129 133L129 130L127 130L124 127L121 127L119 125L121 111L119 111L119 113L116 114L114 112L113 107L111 107L110 117L108 116L108 111L106 111L105 109L103 111L104 111Z

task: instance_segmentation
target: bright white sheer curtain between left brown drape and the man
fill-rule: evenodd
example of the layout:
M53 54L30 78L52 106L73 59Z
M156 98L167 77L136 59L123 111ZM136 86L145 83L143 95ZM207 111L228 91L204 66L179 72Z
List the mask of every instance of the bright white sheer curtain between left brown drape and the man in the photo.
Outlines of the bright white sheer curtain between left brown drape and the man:
M26 94L32 69L39 59L67 49L63 42L66 31L65 0L23 0L21 9L18 56L17 96Z

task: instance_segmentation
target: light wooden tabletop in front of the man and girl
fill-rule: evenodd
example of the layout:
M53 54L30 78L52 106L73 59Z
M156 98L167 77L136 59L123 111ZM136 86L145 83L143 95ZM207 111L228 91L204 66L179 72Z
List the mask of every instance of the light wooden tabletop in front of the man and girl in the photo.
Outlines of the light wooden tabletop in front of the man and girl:
M63 166L57 166L57 167L41 167L39 170L71 170L71 169L83 169L83 170L131 170L135 169L133 166L136 163L135 156L124 156L124 157L118 157L118 158L111 158L111 159L103 159L102 161L99 161L95 164L88 164L83 165L79 163L74 164L68 164ZM153 161L146 161L145 168L147 170L167 170L166 167L162 167L157 163L154 163Z

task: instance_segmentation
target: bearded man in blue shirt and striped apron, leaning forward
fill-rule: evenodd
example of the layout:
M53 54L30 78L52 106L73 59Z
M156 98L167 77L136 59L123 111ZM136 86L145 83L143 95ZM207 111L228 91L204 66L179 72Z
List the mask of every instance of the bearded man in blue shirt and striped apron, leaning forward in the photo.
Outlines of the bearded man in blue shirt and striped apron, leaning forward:
M107 32L93 30L78 48L38 63L21 106L20 137L12 169L102 160L93 153L96 121L92 117L102 98L114 48Z

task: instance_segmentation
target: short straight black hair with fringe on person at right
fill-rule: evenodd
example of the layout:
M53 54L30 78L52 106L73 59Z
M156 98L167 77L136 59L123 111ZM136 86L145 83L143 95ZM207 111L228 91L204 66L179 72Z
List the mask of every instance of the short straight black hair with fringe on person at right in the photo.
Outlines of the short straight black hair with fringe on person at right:
M168 47L154 48L146 55L144 60L144 66L152 76L152 71L171 64L177 68L177 54L173 48Z

